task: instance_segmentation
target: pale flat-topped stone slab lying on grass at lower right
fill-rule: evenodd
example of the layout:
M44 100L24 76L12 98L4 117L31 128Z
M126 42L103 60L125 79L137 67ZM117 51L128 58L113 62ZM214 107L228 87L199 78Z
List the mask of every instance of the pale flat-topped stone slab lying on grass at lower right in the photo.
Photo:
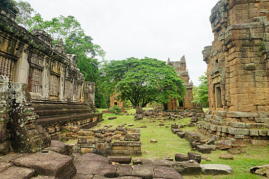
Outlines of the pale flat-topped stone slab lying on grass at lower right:
M206 175L223 175L231 174L234 169L229 165L221 164L201 164L202 173Z

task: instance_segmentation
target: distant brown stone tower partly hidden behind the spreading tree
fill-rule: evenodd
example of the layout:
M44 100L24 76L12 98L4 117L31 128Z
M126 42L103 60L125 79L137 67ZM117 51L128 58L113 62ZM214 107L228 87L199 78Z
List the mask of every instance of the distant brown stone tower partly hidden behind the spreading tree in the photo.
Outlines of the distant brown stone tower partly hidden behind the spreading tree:
M178 77L184 80L184 85L186 87L186 95L184 97L184 100L178 102L178 100L175 98L171 99L171 101L169 101L167 104L168 110L175 110L178 108L178 106L184 109L193 109L193 82L189 82L190 76L188 69L186 69L185 56L181 57L180 61L170 61L170 58L168 58L167 64L172 66L176 70Z

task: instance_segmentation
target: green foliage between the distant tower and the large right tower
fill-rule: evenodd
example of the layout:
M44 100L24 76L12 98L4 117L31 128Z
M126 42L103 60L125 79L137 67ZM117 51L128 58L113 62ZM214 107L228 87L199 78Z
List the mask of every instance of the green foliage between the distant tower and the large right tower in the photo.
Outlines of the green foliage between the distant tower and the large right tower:
M208 77L201 75L199 77L201 84L193 88L193 102L202 105L203 107L209 106L208 97Z

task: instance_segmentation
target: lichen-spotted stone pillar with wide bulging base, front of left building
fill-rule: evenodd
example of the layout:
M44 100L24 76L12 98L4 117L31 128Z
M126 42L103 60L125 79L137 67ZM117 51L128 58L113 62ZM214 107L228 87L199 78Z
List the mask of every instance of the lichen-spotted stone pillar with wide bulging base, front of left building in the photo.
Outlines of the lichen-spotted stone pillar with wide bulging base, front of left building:
M11 145L15 152L33 153L49 146L48 132L34 123L38 117L31 107L27 84L9 84L9 123Z

